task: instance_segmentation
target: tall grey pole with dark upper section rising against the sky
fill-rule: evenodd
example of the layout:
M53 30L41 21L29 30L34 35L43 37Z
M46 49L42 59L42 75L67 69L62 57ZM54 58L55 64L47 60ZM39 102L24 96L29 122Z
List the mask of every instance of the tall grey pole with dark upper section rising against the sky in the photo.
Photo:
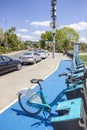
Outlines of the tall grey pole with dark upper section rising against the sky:
M52 23L51 23L51 27L52 27L52 33L53 33L53 55L52 57L55 57L55 34L56 34L56 0L51 0L51 6L52 6L52 10L51 10L51 17L52 17Z

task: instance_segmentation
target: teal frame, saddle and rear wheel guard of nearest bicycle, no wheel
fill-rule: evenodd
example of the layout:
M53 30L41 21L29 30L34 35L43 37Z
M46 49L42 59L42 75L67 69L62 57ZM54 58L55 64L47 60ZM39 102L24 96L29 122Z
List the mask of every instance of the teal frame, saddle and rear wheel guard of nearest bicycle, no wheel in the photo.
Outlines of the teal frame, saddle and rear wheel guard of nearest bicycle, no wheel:
M75 87L75 84L71 83L71 85L68 85L66 89L63 89L51 103L47 103L46 98L43 93L42 86L40 84L41 81L42 81L41 79L32 80L32 83L38 83L39 91L35 92L33 89L25 88L25 89L20 90L18 92L18 95L19 95L19 98L20 98L20 94L22 96L26 97L26 99L27 99L26 104L28 106L31 106L32 108L33 107L39 108L39 110L40 109L45 110L46 112L48 112L50 114L51 114L52 107L58 104L60 99L62 99L62 97L65 95L66 90L69 90L69 89L72 89L73 87ZM20 103L20 106L22 107L20 100L19 100L19 103ZM25 108L23 108L23 110L26 111ZM37 113L38 112L39 111L37 111Z

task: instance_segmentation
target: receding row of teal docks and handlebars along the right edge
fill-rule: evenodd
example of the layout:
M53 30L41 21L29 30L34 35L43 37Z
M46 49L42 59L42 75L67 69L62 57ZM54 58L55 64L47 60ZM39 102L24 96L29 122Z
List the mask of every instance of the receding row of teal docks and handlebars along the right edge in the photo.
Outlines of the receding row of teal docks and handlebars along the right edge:
M87 130L87 72L84 62L77 56L75 69L67 70L69 73L59 74L67 76L67 100L58 104L58 116L51 118L51 124L54 130Z

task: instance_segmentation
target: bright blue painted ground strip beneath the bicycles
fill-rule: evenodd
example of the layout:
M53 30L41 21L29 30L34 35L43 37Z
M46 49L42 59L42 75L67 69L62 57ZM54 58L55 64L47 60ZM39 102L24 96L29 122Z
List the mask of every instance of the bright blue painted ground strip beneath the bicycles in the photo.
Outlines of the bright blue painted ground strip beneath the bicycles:
M41 83L43 86L43 93L47 97L46 102L50 103L56 95L65 88L65 77L60 78L58 77L58 74L65 72L67 67L73 67L72 61L61 61L56 71ZM36 86L34 90L37 91L38 86ZM63 99L65 98L66 97L63 97ZM52 112L55 112L55 106L52 108ZM16 102L6 111L1 113L0 130L53 130L48 115L48 113L42 111L37 116L29 116L21 109L18 102Z

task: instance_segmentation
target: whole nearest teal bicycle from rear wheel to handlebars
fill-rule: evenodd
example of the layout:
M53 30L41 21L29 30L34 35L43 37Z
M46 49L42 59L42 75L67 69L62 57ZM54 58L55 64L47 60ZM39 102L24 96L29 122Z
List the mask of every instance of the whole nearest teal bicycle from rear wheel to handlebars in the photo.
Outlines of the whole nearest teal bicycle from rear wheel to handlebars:
M69 68L68 68L69 70ZM73 76L72 76L73 75ZM83 84L84 81L84 73L80 75L78 73L62 73L58 76L66 76L66 88L63 89L56 98L51 102L47 103L45 95L43 93L43 88L41 86L42 79L32 79L31 83L37 83L39 86L39 90L35 92L33 89L22 89L18 92L18 101L21 108L27 112L31 116L36 116L42 110L48 112L50 115L52 107L57 105L59 100L65 95L66 90L72 89L76 85ZM84 88L83 88L84 89ZM84 89L85 90L85 89Z

